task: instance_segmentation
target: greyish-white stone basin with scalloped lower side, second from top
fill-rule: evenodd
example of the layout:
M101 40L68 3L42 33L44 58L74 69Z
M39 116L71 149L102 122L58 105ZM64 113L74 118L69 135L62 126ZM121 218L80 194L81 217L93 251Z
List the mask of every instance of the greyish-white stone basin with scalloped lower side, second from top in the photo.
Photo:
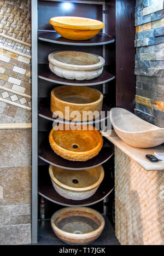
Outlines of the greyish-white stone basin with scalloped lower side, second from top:
M91 80L103 72L105 60L81 51L56 51L49 54L49 68L58 77L69 80Z

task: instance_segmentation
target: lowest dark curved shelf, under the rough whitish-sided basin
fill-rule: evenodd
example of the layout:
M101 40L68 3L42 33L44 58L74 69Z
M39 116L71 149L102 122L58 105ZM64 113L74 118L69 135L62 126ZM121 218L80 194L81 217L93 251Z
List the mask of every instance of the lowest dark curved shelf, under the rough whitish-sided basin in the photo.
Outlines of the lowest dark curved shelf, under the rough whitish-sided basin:
M43 170L45 168L45 170ZM114 181L112 178L109 178L108 181L104 179L102 184L99 186L95 195L85 200L70 200L59 195L54 187L52 186L49 172L46 167L42 167L42 171L39 171L38 179L38 193L43 196L45 199L50 200L51 202L57 203L58 205L63 206L90 206L102 201L114 189Z

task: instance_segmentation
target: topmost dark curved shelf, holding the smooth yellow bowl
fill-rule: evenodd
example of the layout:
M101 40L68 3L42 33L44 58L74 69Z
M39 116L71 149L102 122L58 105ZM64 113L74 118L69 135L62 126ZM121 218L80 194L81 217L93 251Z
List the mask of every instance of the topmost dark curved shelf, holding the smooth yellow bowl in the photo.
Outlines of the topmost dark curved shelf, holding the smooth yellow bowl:
M69 40L63 38L55 31L38 31L38 39L55 44L64 44L64 45L75 45L75 46L93 46L93 45L104 45L113 43L114 38L110 37L105 33L98 33L95 37L90 40L77 41L77 40Z

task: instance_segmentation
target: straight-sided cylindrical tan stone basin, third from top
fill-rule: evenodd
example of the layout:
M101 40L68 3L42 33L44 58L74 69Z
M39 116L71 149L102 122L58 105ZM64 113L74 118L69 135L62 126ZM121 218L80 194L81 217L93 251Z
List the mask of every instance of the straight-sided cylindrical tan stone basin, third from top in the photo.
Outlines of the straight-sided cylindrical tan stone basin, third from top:
M103 95L100 91L86 86L60 86L51 91L51 111L62 112L63 119L73 120L74 111L78 111L76 121L98 118L101 114ZM69 107L69 109L66 107ZM83 114L91 111L94 115ZM72 115L71 115L72 113ZM56 113L60 117L59 114ZM62 118L62 117L61 117Z

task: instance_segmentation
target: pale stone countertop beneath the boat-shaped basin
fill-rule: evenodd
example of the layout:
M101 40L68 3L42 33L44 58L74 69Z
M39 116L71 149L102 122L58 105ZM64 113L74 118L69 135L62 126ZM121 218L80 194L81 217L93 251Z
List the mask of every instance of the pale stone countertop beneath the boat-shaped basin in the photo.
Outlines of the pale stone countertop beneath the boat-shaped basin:
M114 130L101 131L101 134L109 139L109 141L112 142L116 147L122 150L122 152L136 161L146 171L164 171L164 162L150 162L145 157L147 154L154 155L154 152L164 152L163 146L154 148L134 148L122 141L122 139L116 135Z

